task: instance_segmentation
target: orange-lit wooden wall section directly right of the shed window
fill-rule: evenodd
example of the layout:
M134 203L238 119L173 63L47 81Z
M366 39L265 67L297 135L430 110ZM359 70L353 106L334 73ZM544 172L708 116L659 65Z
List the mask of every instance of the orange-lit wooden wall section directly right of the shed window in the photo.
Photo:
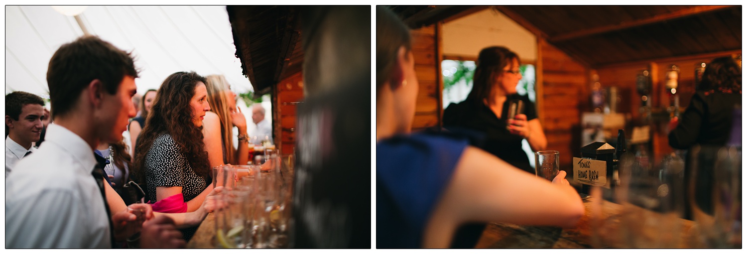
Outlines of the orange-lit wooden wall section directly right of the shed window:
M560 152L560 169L571 171L580 156L580 116L588 110L589 78L586 66L539 40L537 113L548 138L548 150Z

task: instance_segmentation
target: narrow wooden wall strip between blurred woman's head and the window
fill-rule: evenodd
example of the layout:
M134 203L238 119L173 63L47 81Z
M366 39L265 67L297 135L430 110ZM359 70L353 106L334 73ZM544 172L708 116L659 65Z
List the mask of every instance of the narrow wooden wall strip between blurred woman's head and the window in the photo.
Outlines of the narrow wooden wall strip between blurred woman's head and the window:
M415 29L412 35L412 55L418 75L418 99L415 105L413 130L441 126L441 54L438 27L429 25Z

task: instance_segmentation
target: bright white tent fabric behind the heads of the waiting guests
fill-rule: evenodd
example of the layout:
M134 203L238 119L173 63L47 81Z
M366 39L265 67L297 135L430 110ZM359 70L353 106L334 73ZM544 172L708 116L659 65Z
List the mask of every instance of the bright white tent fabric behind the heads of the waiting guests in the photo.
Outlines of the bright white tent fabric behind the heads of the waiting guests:
M236 93L253 90L235 57L225 6L88 6L79 16L90 34L134 53L140 94L190 70L225 75ZM73 16L50 6L5 6L5 93L49 98L49 59L81 35Z

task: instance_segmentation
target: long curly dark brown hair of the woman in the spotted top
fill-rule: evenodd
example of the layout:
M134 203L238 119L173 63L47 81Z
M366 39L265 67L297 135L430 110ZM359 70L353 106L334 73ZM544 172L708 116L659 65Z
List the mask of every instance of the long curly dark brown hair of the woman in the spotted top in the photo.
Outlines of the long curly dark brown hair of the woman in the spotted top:
M179 144L197 176L210 178L210 164L208 152L205 151L202 141L202 127L194 125L190 109L190 100L199 82L205 84L207 80L195 72L176 72L161 84L146 119L145 128L137 137L133 170L137 181L146 184L145 158L153 141L162 133L170 134Z

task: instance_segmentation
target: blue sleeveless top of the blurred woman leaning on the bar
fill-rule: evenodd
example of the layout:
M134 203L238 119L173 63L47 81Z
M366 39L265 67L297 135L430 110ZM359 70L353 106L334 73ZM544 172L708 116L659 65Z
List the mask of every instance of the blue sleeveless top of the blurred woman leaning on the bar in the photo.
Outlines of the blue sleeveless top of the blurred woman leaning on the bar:
M399 135L376 143L376 248L420 248L436 202L468 140Z

